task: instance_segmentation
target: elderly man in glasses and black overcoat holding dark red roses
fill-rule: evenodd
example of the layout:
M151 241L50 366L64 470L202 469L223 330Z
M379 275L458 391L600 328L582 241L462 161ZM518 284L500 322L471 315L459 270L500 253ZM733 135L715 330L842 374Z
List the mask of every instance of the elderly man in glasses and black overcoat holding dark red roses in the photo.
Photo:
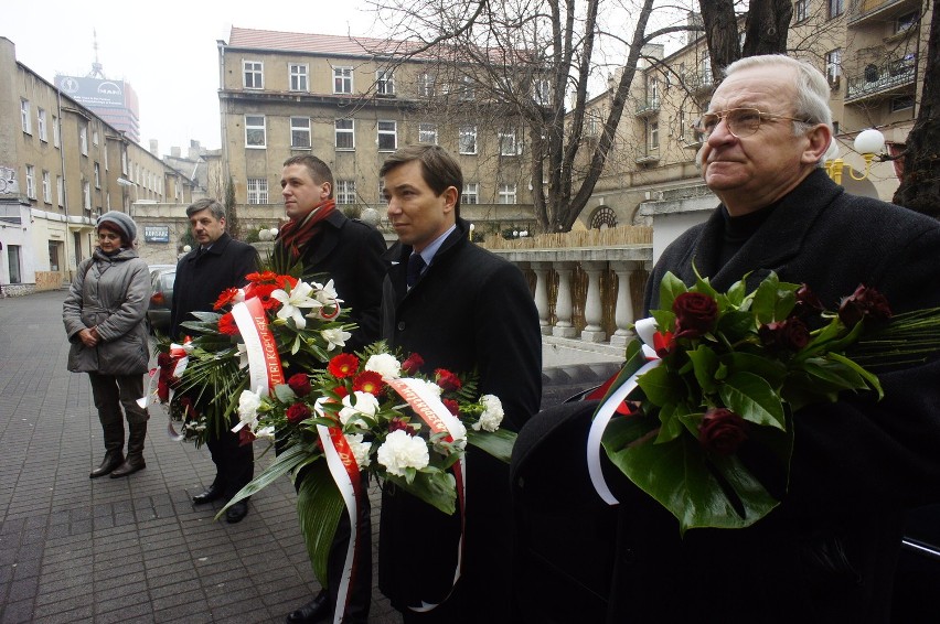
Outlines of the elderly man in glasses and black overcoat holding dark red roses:
M784 56L747 57L726 75L703 117L698 154L722 203L664 250L647 310L659 308L666 271L691 286L696 270L719 291L745 276L752 290L776 271L808 284L829 309L859 283L882 292L895 313L940 305L940 224L850 195L819 166L832 139L823 75ZM789 486L779 480L781 504L749 528L681 537L671 514L608 470L621 477L611 483L620 501L610 512L616 548L591 553L612 570L607 621L889 621L905 512L940 502L940 362L878 376L882 401L846 394L793 415ZM564 411L587 427L594 407L566 406L533 426L547 431ZM523 433L531 453L538 441ZM770 470L748 443L739 456ZM514 455L513 466L517 460L523 481L553 462Z

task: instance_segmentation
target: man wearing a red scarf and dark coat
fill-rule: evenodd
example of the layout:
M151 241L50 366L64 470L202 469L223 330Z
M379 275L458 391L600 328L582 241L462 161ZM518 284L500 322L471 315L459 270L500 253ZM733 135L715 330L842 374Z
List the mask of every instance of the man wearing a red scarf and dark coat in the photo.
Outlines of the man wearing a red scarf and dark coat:
M305 154L289 158L284 163L280 179L285 213L290 220L280 228L275 243L275 266L285 269L302 265L305 281L333 280L350 321L357 327L346 341L343 351L360 351L378 340L378 310L382 301L382 279L385 265L385 239L374 227L346 218L333 201L333 173L322 160ZM292 373L311 373L322 363L291 363ZM302 475L298 475L300 483ZM363 481L363 492L367 484ZM357 546L349 600L343 622L365 624L372 601L372 523L368 498L359 505L356 525ZM339 580L350 539L345 514L330 548L328 564L329 590L324 589L310 602L292 611L287 621L291 624L323 622L335 609Z

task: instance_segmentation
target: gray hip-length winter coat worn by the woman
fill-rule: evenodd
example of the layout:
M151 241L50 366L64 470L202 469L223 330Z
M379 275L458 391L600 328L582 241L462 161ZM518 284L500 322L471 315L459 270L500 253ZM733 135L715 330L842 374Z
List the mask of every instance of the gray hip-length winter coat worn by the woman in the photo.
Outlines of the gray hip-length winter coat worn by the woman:
M62 321L72 343L68 369L103 375L146 373L149 345L143 315L149 300L150 276L137 251L121 249L108 257L95 249L78 265L62 304ZM78 332L94 326L102 340L88 348Z

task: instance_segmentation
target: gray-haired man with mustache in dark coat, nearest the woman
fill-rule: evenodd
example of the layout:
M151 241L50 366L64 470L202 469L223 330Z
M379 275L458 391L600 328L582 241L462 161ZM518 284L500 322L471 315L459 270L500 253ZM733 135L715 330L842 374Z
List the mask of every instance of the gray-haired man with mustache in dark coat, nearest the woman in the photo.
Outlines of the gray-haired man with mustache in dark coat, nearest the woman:
M222 291L247 283L245 276L257 270L258 263L254 247L225 232L225 207L217 201L200 200L186 208L186 216L199 246L177 265L170 311L170 335L175 340L186 334L181 323L195 320L191 312L212 311ZM193 496L196 505L232 498L252 481L255 472L252 445L239 445L235 433L211 432L206 445L215 463L215 478L205 492ZM241 501L225 512L225 519L238 523L247 514L247 501Z

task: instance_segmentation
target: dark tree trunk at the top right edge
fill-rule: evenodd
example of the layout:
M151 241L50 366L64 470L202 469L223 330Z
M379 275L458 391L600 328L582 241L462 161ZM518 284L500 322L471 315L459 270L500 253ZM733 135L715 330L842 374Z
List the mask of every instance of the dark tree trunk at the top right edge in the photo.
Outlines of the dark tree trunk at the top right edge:
M927 65L920 109L904 152L901 183L895 192L894 202L912 211L940 217L940 64L930 62L940 53L940 0L933 0L933 20L927 54L918 55L918 62Z

